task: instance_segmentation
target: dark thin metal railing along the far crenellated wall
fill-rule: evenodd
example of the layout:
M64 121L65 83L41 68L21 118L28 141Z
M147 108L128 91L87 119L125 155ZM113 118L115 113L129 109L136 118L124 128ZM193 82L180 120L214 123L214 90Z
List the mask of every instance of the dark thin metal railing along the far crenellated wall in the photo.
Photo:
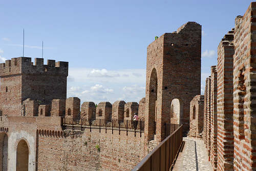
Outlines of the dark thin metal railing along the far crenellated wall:
M136 136L136 132L141 133L144 132L144 121L139 120L137 125L133 120L118 120L118 119L91 119L88 120L86 118L61 118L61 126L63 129L72 129L72 130L81 130L83 131L85 128L90 128L90 132L92 129L99 129L99 132L105 130L112 130L112 134L114 130L119 130L119 135L121 131L126 131L126 135L128 132L134 132L134 136Z

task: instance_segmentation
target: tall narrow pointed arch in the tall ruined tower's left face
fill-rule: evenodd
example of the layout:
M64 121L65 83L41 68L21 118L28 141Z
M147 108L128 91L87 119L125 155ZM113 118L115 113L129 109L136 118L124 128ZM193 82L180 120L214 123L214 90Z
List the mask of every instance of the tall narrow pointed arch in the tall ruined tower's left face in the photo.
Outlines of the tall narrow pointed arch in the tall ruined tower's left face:
M149 89L149 104L148 104L148 135L153 138L156 134L156 116L157 116L157 71L154 68L150 77L150 89Z

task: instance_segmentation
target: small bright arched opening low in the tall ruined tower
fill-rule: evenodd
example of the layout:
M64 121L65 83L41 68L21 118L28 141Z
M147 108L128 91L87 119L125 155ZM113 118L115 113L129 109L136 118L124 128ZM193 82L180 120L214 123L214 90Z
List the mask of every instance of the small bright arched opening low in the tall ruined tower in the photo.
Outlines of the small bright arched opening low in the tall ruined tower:
M170 123L182 124L183 119L183 103L179 99L173 99L170 105Z

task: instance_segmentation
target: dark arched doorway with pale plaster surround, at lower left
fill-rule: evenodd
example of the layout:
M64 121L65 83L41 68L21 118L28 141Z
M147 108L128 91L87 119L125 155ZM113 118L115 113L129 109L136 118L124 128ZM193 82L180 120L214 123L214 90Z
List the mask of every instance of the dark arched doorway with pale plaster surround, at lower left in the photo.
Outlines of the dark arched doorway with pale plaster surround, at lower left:
M16 171L28 171L29 169L29 148L27 142L19 141L16 153Z

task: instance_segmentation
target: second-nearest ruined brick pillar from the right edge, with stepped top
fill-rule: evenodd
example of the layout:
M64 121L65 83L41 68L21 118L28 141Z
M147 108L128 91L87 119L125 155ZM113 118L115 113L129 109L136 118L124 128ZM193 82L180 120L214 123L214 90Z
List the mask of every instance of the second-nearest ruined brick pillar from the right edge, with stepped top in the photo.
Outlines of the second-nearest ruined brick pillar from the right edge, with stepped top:
M233 29L218 46L218 170L233 170Z

